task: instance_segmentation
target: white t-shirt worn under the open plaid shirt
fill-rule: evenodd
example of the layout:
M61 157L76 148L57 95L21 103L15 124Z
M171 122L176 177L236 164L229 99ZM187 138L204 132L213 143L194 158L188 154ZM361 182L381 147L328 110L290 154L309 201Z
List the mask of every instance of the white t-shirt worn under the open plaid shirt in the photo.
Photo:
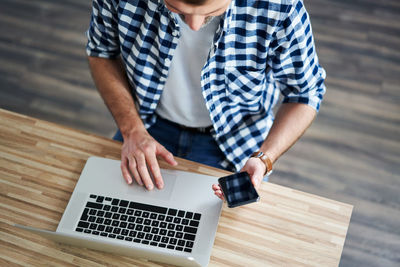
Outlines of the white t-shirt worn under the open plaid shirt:
M179 15L174 15L180 26L180 38L156 113L187 127L210 126L212 122L202 95L200 76L220 17L193 31Z

